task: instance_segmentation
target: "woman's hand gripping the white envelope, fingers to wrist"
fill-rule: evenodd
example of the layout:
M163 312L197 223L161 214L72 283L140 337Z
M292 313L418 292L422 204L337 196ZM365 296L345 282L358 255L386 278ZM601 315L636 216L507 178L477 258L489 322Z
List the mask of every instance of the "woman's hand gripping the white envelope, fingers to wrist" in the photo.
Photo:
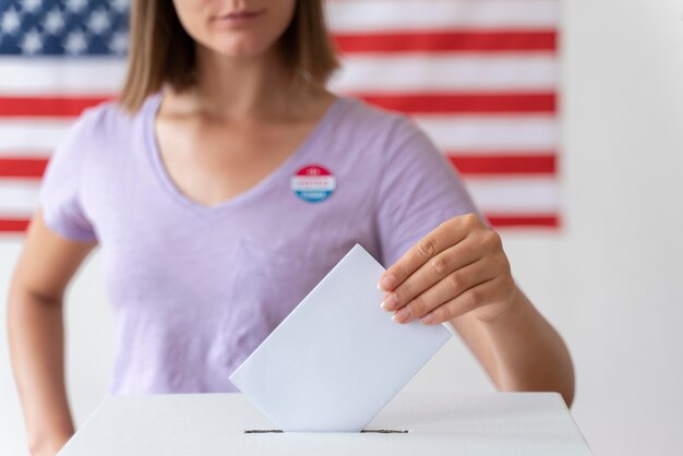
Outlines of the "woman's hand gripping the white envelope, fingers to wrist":
M495 320L515 302L516 286L500 236L476 214L444 221L380 278L382 308L397 323L438 324L474 312Z

